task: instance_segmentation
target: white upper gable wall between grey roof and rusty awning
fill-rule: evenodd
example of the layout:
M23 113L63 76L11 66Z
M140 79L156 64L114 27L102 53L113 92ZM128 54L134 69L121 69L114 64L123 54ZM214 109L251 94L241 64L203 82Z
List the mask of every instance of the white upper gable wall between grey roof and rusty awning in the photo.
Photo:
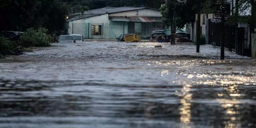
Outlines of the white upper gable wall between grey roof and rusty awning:
M138 11L138 15L137 15ZM109 14L109 16L127 16L127 17L134 17L134 16L148 16L148 17L160 17L161 11L153 10L153 9L140 9L140 10L133 10L127 12L118 12Z

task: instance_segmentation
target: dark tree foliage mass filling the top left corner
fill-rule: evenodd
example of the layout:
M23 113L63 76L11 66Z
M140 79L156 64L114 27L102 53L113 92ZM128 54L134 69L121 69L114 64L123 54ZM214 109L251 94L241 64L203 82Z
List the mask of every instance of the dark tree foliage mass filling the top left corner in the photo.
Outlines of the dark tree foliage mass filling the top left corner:
M63 29L67 9L56 0L0 0L0 30Z

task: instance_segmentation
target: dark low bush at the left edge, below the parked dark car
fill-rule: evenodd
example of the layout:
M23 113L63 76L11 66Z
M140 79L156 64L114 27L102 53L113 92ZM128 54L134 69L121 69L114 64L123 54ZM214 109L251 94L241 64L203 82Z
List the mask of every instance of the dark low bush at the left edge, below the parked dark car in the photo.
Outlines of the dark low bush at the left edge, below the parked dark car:
M17 44L8 39L0 38L0 58L1 54L6 55L14 52L17 49Z

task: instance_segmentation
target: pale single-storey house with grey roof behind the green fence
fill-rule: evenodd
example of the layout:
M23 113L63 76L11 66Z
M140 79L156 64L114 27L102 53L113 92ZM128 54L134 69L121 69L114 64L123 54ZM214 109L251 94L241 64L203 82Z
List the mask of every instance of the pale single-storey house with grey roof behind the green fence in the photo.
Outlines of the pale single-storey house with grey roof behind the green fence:
M76 13L67 20L68 34L85 38L116 39L123 33L149 38L163 28L161 11L148 7L105 7Z

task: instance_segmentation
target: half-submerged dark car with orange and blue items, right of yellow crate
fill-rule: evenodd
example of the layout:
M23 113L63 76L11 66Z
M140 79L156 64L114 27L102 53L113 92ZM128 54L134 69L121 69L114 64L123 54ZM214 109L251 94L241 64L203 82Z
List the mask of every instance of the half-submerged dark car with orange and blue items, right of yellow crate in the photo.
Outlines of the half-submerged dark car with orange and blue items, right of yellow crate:
M150 42L170 42L164 32L153 32L149 38Z

